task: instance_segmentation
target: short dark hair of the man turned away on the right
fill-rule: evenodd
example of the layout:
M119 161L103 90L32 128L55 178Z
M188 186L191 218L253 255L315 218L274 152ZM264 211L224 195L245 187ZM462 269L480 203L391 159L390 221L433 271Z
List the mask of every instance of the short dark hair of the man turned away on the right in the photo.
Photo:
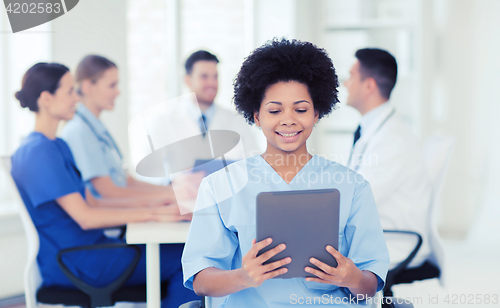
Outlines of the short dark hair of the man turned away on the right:
M356 51L356 58L360 63L361 78L373 78L380 95L389 99L398 77L396 59L389 52L379 48L359 49Z

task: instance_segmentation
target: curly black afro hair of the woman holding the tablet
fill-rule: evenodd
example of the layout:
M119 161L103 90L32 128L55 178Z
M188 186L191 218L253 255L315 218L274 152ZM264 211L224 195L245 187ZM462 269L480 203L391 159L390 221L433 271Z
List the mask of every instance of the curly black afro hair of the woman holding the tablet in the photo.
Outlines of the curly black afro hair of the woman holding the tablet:
M274 38L245 59L234 79L236 110L253 124L267 88L288 81L307 86L320 119L339 102L337 74L324 49L309 42Z

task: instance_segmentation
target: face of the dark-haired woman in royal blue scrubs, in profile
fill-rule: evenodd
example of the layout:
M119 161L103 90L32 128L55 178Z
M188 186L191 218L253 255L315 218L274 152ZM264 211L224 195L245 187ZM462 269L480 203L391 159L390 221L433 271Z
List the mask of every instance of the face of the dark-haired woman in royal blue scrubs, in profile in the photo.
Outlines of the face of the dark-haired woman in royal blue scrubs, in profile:
M39 107L50 117L56 120L71 120L75 114L78 95L74 88L73 77L69 72L61 77L59 88L54 94L48 91L42 92L39 98Z

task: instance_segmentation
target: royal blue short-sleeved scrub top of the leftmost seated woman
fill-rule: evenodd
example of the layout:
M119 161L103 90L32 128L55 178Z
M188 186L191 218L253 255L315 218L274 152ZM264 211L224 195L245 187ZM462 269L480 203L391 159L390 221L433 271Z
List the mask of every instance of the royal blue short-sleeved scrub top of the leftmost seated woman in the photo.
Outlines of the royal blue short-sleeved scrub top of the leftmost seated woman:
M108 239L101 229L83 230L57 203L56 199L75 192L85 198L84 182L62 139L31 133L12 156L11 172L39 235L37 261L43 285L74 288L57 264L57 253L121 240ZM128 251L94 250L71 253L63 261L84 281L102 286L116 278L132 257Z

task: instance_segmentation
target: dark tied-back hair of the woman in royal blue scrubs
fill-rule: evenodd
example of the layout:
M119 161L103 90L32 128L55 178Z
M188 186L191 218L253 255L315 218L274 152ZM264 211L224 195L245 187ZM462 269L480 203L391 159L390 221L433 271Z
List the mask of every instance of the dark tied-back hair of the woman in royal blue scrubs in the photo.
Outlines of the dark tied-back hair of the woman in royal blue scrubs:
M24 74L21 90L15 96L21 107L28 107L31 111L38 111L38 98L44 91L54 94L60 86L62 76L69 69L59 63L40 62L33 65Z

